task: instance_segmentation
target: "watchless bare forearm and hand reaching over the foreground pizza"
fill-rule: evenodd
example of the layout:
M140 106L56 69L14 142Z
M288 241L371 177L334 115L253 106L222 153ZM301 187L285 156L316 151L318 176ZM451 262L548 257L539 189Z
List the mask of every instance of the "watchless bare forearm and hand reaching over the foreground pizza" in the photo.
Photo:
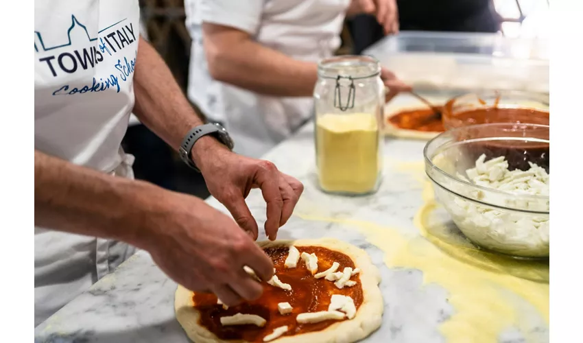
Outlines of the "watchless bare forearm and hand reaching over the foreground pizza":
M125 241L171 279L233 306L261 296L273 263L230 217L193 196L110 176L34 150L34 224Z

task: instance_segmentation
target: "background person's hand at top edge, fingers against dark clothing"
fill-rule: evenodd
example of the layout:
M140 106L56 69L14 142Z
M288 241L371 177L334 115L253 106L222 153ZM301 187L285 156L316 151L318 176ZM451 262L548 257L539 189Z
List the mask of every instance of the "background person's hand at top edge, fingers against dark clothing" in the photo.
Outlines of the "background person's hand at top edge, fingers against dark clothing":
M348 16L355 14L372 14L385 34L398 33L398 10L396 0L352 0L346 11Z

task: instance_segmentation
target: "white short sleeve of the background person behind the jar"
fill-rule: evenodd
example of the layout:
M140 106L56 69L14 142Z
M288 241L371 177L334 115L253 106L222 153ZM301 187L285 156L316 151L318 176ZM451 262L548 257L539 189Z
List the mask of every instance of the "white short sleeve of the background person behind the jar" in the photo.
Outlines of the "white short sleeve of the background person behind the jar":
M261 22L265 0L202 0L200 16L203 23L235 27L256 34Z

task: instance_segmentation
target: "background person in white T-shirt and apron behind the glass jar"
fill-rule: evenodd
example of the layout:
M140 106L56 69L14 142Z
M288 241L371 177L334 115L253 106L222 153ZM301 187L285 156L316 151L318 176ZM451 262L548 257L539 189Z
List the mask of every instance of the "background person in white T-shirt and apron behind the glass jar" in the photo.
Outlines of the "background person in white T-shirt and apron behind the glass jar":
M396 29L394 0L186 0L188 96L224 123L235 151L262 156L312 114L317 62L340 47L346 15ZM383 69L391 95L409 89Z

